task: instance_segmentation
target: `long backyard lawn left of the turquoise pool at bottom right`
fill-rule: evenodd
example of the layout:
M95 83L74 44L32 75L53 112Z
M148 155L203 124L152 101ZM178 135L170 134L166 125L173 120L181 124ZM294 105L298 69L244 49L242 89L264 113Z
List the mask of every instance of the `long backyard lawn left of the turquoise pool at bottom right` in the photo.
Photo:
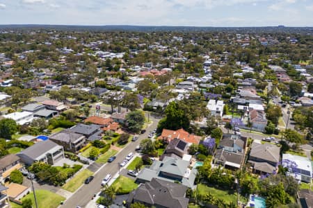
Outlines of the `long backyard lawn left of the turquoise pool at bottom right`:
M230 202L234 202L236 204L237 202L237 195L233 190L230 191L223 191L220 189L216 189L214 187L207 187L204 184L198 184L198 194L199 195L205 195L206 193L213 194L216 198L221 198L225 200L228 204ZM246 198L241 197L241 201L246 202Z

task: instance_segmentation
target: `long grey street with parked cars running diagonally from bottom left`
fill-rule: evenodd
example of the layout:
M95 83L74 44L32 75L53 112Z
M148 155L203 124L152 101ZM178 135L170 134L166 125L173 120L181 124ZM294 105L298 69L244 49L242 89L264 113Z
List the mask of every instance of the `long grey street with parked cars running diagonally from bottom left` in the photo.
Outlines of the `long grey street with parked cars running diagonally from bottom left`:
M143 135L139 135L139 139L137 141L131 141L127 146L125 146L125 148L120 150L120 152L116 155L117 158L114 160L114 162L104 164L104 166L102 166L102 168L100 168L99 171L94 175L94 180L90 182L90 184L83 184L83 186L76 193L74 193L72 197L67 199L65 204L61 207L86 207L91 198L93 198L93 195L98 193L102 188L101 182L103 178L107 174L115 175L115 173L118 173L118 163L122 162L122 160L125 159L129 153L134 153L136 146L140 144L141 140L146 139L150 132L157 128L159 119L156 119L150 115L150 120L152 120L153 123L147 127L146 132Z

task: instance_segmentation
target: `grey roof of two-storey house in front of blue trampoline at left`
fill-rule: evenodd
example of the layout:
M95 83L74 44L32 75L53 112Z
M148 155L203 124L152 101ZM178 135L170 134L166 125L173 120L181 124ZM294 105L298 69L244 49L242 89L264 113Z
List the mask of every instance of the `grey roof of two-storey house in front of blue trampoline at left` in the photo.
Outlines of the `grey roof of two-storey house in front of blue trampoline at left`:
M54 143L53 141L50 141L49 139L46 141L39 141L33 146L30 146L29 148L24 149L22 152L17 153L18 155L27 155L28 157L32 159L36 159L37 157L43 155L44 153L47 153L52 148L56 148L62 146L59 146L58 144Z

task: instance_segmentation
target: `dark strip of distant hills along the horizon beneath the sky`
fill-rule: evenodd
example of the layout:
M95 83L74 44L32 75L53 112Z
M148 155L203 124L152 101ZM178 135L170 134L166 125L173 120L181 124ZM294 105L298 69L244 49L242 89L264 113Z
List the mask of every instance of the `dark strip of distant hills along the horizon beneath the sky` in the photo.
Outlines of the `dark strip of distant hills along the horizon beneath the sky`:
M106 25L106 26L80 26L80 25L44 25L44 24L12 24L0 25L0 30L38 30L51 29L61 31L247 31L247 32L291 32L313 33L313 27L287 27L287 26L261 26L261 27L198 27L198 26L131 26L131 25Z

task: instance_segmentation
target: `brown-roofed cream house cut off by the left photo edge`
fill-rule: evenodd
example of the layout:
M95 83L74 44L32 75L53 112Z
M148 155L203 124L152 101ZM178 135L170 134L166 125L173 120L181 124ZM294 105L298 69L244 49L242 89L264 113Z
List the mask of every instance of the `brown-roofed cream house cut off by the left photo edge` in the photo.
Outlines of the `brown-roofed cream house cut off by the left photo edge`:
M0 158L0 183L6 182L12 171L22 168L19 157L10 154Z

